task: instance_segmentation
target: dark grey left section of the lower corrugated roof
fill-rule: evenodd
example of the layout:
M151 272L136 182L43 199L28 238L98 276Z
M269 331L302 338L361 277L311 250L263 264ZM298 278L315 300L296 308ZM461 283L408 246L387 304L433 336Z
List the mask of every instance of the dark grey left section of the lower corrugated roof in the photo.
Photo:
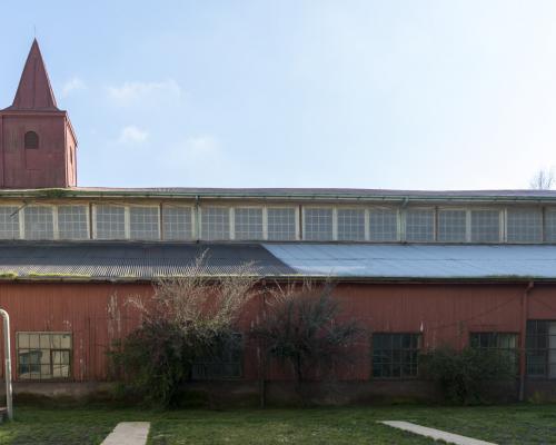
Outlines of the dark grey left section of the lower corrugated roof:
M259 244L0 243L0 277L133 280L183 275L206 254L209 275L230 275L252 263L260 276L296 271Z

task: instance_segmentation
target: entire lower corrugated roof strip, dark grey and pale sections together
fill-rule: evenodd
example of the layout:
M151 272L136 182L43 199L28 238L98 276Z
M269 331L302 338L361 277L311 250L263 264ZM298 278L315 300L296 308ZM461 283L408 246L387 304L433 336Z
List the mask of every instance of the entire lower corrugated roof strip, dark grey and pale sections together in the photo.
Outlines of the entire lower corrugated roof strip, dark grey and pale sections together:
M0 243L0 278L150 280L186 274L207 250L209 275L252 263L261 277L556 280L556 246Z

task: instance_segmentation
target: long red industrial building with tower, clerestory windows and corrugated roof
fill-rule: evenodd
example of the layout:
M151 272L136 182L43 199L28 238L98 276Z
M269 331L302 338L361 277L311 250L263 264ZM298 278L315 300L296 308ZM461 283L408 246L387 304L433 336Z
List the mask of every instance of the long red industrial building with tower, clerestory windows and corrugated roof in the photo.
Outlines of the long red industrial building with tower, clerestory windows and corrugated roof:
M125 189L77 178L76 132L34 41L0 111L0 307L16 392L101 385L110 343L138 324L126 297L151 295L207 251L215 276L252 263L266 280L337 283L346 315L368 330L342 377L349 400L430 395L418 354L444 344L515 352L515 397L556 398L555 191ZM246 342L192 379L245 390L288 380L278 369L261 377L257 357Z

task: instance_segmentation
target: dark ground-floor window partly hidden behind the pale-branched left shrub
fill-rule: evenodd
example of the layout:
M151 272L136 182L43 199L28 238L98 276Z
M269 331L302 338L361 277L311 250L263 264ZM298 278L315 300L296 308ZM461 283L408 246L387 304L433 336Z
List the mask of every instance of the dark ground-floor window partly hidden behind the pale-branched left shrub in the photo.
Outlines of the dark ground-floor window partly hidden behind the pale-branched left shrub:
M218 350L196 359L191 366L191 378L193 380L240 378L242 352L241 334L237 334Z

